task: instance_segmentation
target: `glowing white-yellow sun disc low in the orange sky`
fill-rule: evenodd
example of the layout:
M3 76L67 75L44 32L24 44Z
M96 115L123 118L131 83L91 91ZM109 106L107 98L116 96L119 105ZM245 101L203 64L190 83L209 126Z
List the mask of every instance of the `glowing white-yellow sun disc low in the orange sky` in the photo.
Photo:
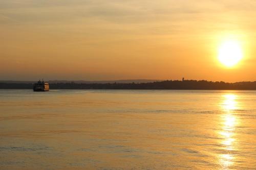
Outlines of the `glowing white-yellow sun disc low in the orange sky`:
M239 41L224 41L219 47L219 61L226 67L237 65L243 58L242 47Z

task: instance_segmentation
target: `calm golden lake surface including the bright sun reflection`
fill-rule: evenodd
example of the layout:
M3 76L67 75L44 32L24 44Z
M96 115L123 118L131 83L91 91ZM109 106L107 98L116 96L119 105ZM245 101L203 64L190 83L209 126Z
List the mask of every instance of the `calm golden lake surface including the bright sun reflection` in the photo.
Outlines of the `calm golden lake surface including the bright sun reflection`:
M0 169L256 169L256 91L0 90Z

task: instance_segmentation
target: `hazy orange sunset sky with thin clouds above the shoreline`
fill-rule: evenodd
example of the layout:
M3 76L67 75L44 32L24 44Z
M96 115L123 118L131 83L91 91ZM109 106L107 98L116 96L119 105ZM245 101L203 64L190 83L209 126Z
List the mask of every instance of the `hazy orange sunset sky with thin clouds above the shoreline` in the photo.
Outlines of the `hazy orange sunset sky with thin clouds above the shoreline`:
M254 0L0 0L0 80L256 81L255 18Z

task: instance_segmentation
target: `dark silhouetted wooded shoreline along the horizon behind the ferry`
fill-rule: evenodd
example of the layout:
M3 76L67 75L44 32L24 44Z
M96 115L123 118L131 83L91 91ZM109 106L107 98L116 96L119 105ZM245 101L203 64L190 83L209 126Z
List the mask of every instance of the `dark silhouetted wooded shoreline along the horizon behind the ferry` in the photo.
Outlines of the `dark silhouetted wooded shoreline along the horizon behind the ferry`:
M32 89L33 83L3 83L0 89ZM111 89L111 90L256 90L254 82L211 82L206 80L166 80L148 83L50 83L50 89Z

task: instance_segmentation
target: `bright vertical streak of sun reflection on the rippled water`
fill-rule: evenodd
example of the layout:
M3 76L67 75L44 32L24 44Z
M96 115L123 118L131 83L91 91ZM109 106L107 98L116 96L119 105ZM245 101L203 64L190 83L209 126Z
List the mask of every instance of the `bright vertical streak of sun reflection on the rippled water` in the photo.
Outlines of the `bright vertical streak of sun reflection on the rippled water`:
M221 116L221 131L219 132L220 137L223 139L221 141L223 154L219 155L220 164L228 169L233 165L236 155L232 154L232 151L236 150L234 148L235 130L238 124L238 119L236 115L233 114L233 111L238 109L237 96L235 94L225 94L223 96L224 100L222 103L222 109L224 114Z

